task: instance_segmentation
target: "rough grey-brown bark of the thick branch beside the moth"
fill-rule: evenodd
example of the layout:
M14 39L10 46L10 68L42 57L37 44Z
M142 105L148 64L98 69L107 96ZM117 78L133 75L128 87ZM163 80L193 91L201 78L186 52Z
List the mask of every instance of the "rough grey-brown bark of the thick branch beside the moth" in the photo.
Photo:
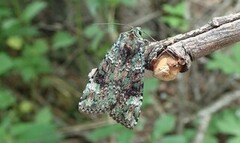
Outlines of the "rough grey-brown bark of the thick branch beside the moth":
M158 59L167 53L169 57L175 58L177 64L171 65L166 62L166 65L179 67L179 72L185 72L193 60L238 41L240 41L240 13L215 17L196 30L161 41L149 42L145 52L146 68L157 70L161 74L162 69L156 64L159 62ZM158 69L155 69L156 67ZM166 67L164 70L162 73L166 74Z

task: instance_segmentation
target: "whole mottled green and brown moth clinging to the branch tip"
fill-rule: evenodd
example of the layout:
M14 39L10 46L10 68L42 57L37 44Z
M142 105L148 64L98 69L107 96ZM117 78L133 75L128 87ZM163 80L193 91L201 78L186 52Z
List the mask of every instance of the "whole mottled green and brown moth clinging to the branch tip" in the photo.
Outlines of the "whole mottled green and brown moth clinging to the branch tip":
M89 73L80 112L107 112L127 128L136 126L143 100L145 45L140 27L119 35L99 67Z

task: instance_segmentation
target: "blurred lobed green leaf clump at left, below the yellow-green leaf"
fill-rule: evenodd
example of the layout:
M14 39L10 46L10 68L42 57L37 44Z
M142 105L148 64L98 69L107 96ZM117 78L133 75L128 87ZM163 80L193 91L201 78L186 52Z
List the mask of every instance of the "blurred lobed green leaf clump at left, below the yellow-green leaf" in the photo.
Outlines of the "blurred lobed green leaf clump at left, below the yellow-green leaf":
M46 41L36 39L33 44L26 44L21 57L14 59L14 68L20 73L24 81L30 82L39 75L51 71L49 60L45 57L47 50Z

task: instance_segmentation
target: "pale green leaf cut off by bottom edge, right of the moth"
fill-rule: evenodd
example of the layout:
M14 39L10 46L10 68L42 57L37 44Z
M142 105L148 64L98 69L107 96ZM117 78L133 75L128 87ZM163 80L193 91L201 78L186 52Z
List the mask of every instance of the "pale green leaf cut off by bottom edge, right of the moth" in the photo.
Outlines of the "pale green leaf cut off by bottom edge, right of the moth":
M187 143L186 138L183 135L171 135L171 136L164 136L161 143Z

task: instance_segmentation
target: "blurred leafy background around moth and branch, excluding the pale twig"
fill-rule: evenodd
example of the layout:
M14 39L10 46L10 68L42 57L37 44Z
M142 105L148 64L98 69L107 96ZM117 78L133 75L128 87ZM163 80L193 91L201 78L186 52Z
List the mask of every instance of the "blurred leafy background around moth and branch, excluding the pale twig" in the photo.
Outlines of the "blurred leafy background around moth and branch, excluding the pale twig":
M233 13L238 1L1 0L0 143L189 143L197 113L239 89L240 47L194 62L171 82L146 72L137 127L78 112L88 72L129 26L164 39ZM224 81L224 82L223 82ZM240 101L215 113L204 143L240 142Z

